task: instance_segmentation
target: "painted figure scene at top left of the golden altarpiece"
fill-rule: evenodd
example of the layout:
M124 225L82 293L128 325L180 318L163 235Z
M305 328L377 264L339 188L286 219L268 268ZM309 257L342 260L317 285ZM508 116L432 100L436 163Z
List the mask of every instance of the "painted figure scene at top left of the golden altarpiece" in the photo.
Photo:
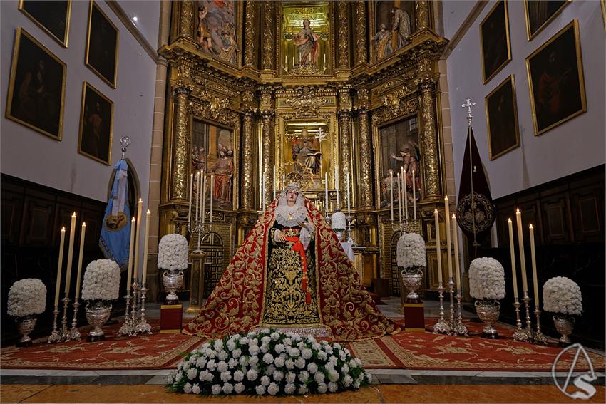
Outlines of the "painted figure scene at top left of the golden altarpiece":
M208 55L233 66L242 60L242 12L244 1L197 0L196 41Z

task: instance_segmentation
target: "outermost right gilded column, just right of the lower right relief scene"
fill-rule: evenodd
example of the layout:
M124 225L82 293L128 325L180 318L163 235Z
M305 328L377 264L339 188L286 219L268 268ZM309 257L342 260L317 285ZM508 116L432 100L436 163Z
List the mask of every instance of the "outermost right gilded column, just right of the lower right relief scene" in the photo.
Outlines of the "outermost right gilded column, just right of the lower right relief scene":
M439 143L436 130L436 114L434 113L433 88L436 78L432 73L433 61L421 59L418 61L418 74L416 82L421 90L421 147L423 147L423 171L425 178L425 192L423 199L441 199Z

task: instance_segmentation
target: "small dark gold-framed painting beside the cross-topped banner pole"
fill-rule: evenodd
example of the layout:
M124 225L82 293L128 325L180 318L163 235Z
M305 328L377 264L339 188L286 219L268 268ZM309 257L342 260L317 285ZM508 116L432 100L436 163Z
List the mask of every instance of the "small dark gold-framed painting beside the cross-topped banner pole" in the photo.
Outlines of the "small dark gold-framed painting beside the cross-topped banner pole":
M484 98L488 157L491 160L520 147L515 78L509 75Z

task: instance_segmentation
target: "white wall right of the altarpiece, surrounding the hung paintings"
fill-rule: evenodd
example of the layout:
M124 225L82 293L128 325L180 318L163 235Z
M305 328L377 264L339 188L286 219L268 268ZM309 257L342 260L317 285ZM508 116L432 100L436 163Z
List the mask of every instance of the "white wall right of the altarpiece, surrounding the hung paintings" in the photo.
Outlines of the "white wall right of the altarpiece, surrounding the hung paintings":
M458 28L446 24L450 13L447 7L453 6L450 3L443 2L445 31L456 32ZM446 64L449 100L450 105L453 105L451 127L456 188L458 190L467 133L466 113L459 107L469 97L477 103L473 109L473 131L488 173L493 198L498 198L604 164L606 54L605 28L599 1L572 1L530 42L526 39L523 1L508 1L512 60L485 86L482 83L479 24L494 3L491 1L484 7L478 19L448 56ZM463 6L470 8L466 4ZM464 18L458 15L455 21L462 22ZM572 19L579 21L587 112L543 135L535 136L525 58ZM515 76L521 145L491 161L488 159L484 98L510 74Z

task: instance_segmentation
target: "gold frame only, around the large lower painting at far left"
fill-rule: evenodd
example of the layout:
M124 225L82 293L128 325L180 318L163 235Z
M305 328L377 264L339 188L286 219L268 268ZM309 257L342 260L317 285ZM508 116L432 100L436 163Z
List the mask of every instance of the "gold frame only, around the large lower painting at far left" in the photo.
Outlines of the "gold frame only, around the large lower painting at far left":
M15 116L11 115L11 108L12 108L12 104L13 104L13 94L14 94L14 90L15 90L15 78L16 78L16 69L17 69L17 64L19 63L19 49L21 47L21 35L26 36L30 41L32 41L36 46L38 46L38 48L41 48L48 56L50 56L51 58L53 58L57 63L61 64L61 66L63 66L63 78L61 79L61 106L59 107L59 126L58 126L58 135L53 135L52 133L48 133L46 132L46 130L43 130L42 128L38 128L35 125L32 125L31 123L28 123L24 120L21 120L19 118L16 118ZM49 138L53 138L54 140L59 140L61 141L61 139L63 138L63 108L65 106L65 83L66 83L66 70L67 70L67 65L65 63L63 63L63 61L61 61L61 59L59 59L57 56L55 56L54 53L52 53L51 51L48 50L48 48L46 48L46 46L43 46L42 43L36 41L36 39L34 38L34 36L31 36L31 34L29 32L27 32L25 29L19 27L17 28L17 33L15 36L15 45L13 48L13 61L11 63L11 76L9 78L9 90L6 92L6 110L4 115L6 116L6 118L9 118L10 120L14 120L16 123L21 123L21 125L24 125L30 129L36 130L36 132L42 133L43 135L48 136Z

